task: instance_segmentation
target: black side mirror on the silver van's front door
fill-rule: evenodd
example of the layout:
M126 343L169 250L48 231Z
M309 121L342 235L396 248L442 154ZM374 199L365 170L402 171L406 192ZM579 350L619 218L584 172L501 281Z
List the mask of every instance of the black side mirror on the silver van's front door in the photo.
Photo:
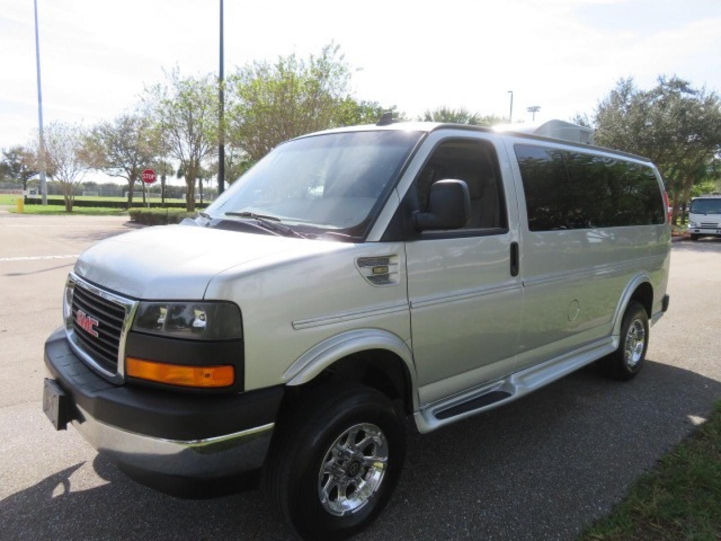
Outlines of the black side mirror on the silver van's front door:
M471 196L463 180L438 180L430 186L428 211L414 215L415 228L459 229L471 215Z

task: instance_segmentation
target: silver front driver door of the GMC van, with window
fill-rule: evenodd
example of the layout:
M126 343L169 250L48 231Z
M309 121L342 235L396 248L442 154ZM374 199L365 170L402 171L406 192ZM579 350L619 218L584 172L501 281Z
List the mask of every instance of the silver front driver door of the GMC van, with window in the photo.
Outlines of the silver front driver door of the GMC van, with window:
M421 232L406 243L421 405L513 372L523 293L516 193L499 156L507 163L485 133L445 138L410 186L420 211L437 180L464 180L471 197L464 228Z

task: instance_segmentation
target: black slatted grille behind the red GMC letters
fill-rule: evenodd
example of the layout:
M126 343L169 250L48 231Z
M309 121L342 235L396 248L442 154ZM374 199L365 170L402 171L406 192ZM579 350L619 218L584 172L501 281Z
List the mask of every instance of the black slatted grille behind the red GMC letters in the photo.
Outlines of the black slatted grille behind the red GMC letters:
M80 286L74 288L72 307L73 329L77 338L76 346L81 347L103 368L112 372L117 371L118 348L125 319L125 307L103 299L102 296ZM87 317L97 320L97 325L92 327L92 330L97 332L97 337L78 325L78 310L81 310Z

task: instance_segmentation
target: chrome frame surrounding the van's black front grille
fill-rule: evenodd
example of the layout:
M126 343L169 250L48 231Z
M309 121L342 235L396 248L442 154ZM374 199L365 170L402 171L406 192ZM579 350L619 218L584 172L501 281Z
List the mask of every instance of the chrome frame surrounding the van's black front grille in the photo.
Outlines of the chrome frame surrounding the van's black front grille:
M68 274L66 288L73 289L75 287L81 287L82 289L85 289L90 293L95 294L109 302L118 304L123 307L123 309L125 309L125 318L123 319L123 325L120 327L120 339L118 342L117 372L108 371L103 366L98 364L97 361L95 361L89 353L84 351L75 336L72 315L69 315L65 319L65 334L68 337L68 343L70 343L70 347L74 351L74 353L76 353L76 355L79 356L80 359L82 359L84 363L87 364L91 369L93 369L102 377L107 379L107 381L115 384L123 383L125 381L125 341L128 338L128 333L131 330L133 318L136 315L138 304L140 304L140 302L134 301L132 299L126 299L123 296L110 293L110 291L105 291L104 289L100 289L99 287L94 286L92 283L85 281L76 273L71 272ZM63 302L65 302L65 298L63 298Z

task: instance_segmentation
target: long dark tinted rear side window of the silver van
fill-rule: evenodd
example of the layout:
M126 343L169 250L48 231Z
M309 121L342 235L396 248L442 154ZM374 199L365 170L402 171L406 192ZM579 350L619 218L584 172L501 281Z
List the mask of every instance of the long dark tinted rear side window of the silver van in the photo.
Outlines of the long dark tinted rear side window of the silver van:
M663 197L651 167L533 145L516 145L516 157L531 231L665 221Z

